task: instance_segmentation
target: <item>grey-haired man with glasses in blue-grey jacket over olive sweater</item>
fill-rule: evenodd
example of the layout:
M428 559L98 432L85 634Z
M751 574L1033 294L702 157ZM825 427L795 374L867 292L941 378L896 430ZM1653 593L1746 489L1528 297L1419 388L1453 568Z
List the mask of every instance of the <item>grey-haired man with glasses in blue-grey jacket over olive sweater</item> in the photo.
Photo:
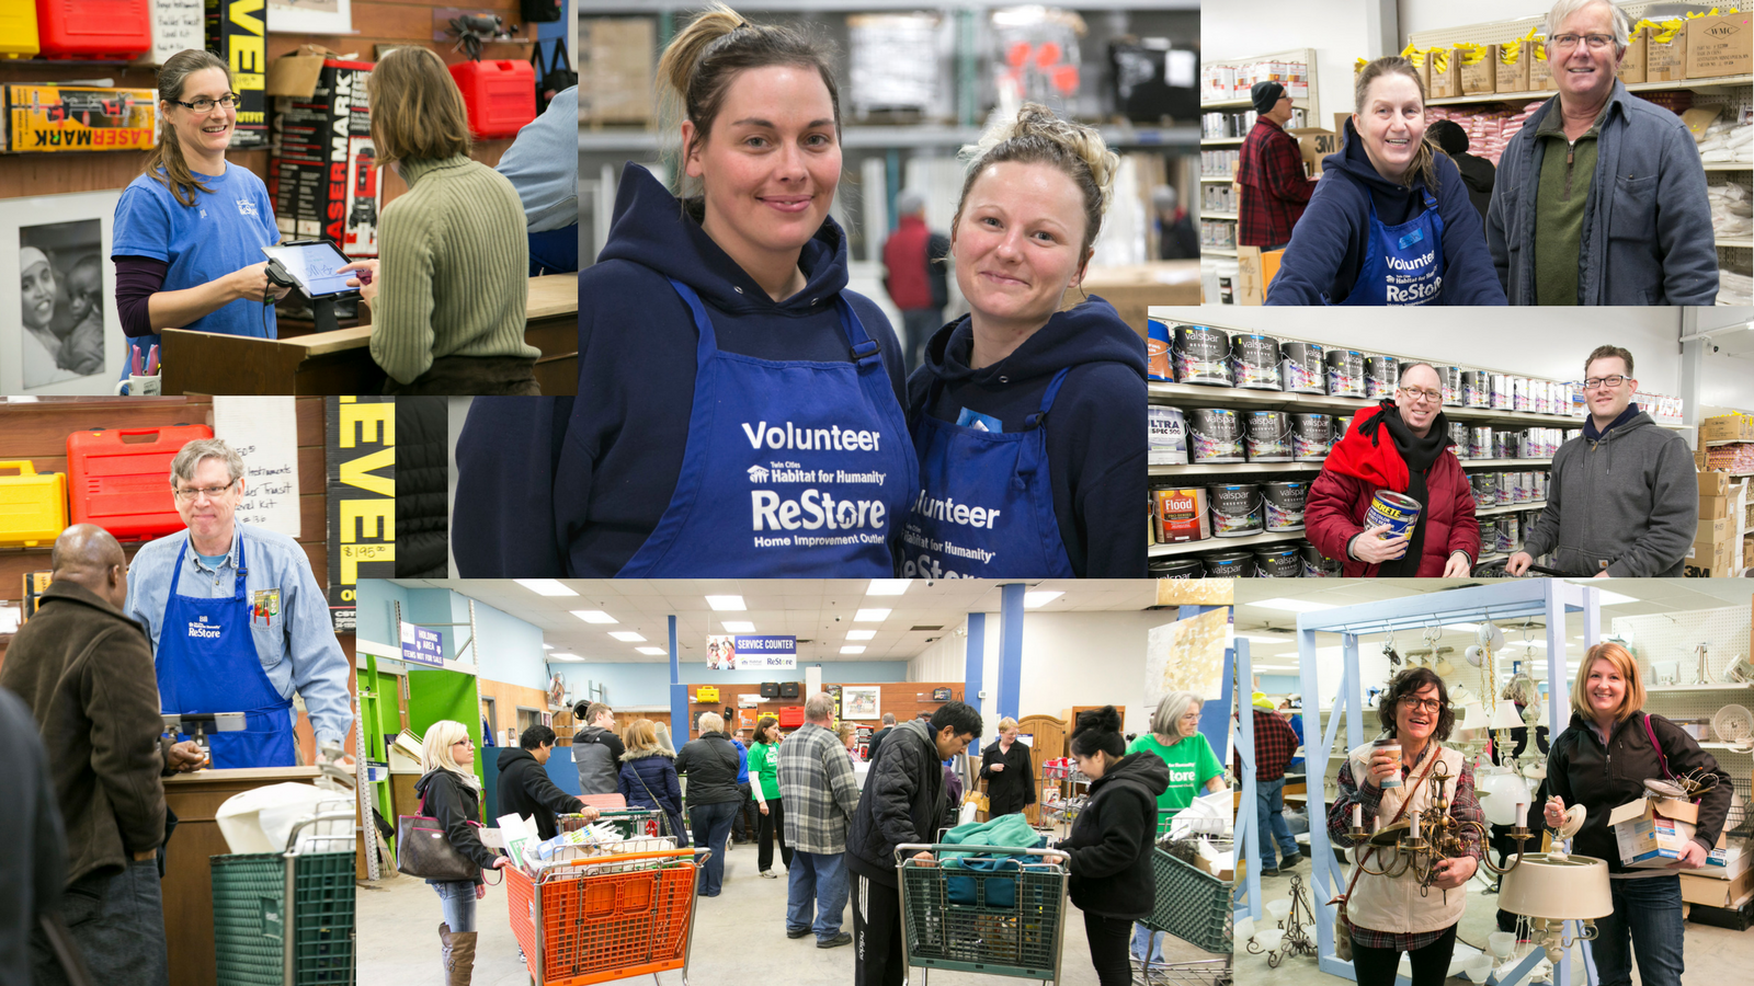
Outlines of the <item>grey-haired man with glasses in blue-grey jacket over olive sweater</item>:
M1710 305L1717 247L1700 149L1614 74L1628 18L1607 0L1547 12L1559 95L1510 139L1486 242L1512 305Z

